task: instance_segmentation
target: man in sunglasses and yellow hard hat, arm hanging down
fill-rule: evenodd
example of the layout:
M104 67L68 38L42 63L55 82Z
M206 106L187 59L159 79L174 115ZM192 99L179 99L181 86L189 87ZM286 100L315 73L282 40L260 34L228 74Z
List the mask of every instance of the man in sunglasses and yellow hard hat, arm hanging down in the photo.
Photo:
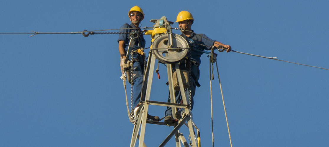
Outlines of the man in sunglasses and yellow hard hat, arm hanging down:
M128 16L131 21L131 24L129 25L126 23L122 25L120 28L122 30L120 30L119 32L123 32L123 33L131 32L131 31L141 32L141 29L138 28L140 22L144 19L143 10L138 6L134 6L128 12ZM140 33L139 38L136 39L136 43L133 46L133 51L137 51L137 52L133 52L132 55L128 55L127 57L126 57L126 53L130 42L129 34L119 34L119 38L117 41L119 43L121 71L124 72L124 70L126 70L128 72L131 72L130 76L128 76L129 79L127 80L130 81L131 80L130 78L132 77L132 81L133 81L132 108L134 109L132 113L136 114L136 112L138 111L139 101L144 101L145 99L145 97L140 97L142 83L143 83L144 65L145 65L144 52L141 51L140 49L145 48L145 39L143 35ZM125 58L129 59L129 62L132 63L132 67L129 66L131 65L129 63L127 64L123 63ZM153 121L159 121L158 116L147 115L147 118Z

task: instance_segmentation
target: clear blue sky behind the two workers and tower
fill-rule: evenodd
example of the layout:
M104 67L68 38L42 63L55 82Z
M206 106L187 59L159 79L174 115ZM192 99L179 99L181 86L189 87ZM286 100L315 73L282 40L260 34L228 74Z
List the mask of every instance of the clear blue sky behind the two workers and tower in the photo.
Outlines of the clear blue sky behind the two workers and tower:
M151 19L175 21L186 10L195 19L195 32L235 51L329 68L328 1L13 0L1 5L0 32L117 29L129 23L127 13L135 5L145 13L142 26L151 27ZM0 34L0 146L128 146L133 125L119 78L117 37ZM150 36L145 39L150 46ZM193 120L202 146L211 146L209 63L206 55L201 60ZM233 52L219 53L218 64L233 146L329 144L327 70ZM154 101L168 96L163 65L160 75L152 84ZM213 103L215 146L229 146L216 80ZM163 117L164 110L151 106L149 113ZM158 146L172 129L148 124L146 145Z

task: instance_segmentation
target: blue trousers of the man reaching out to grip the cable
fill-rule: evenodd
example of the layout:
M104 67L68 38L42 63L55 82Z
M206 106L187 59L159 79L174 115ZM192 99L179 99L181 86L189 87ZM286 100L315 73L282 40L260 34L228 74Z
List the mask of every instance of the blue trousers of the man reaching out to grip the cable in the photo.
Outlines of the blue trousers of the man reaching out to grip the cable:
M196 82L199 80L199 76L200 76L200 70L199 67L197 67L196 65L192 64L191 66L191 101L190 101L190 93L188 89L185 89L185 95L186 95L186 100L188 104L191 104L191 111L193 109L193 97L195 94L195 88L196 88ZM183 103L182 101L182 95L180 91L174 91L175 93L175 101L177 104ZM168 103L170 103L170 94L168 96ZM178 111L183 111L184 109L181 108ZM171 111L171 107L167 107L167 109L164 112L165 116L172 116L172 111Z

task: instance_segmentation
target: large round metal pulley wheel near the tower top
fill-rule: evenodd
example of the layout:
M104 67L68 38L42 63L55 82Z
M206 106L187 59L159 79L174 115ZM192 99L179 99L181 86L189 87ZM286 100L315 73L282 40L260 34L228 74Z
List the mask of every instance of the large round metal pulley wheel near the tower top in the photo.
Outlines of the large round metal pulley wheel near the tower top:
M189 51L189 44L184 37L172 34L171 38L171 48L169 48L168 34L162 34L153 41L152 53L159 61L166 64L175 64L184 60Z

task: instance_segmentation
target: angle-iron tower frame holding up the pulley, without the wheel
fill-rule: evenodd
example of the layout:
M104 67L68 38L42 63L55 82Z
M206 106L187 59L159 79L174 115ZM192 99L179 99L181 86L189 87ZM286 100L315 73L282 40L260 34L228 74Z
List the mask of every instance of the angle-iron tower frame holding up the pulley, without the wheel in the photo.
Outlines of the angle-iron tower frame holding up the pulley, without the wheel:
M155 27L160 27L161 24L164 24L166 27L166 33L167 33L167 38L168 38L168 50L172 48L172 32L171 32L171 27L170 24L173 24L173 22L167 21L166 17L163 16L160 20L151 20L151 22L156 23L154 26ZM159 35L157 34L155 36L158 37ZM149 105L157 105L157 106L168 106L172 107L172 114L176 113L176 108L184 108L184 113L185 116L178 121L178 123L173 123L173 124L167 124L164 122L154 122L152 124L159 124L159 125L169 125L169 126L174 126L174 130L164 139L164 141L159 145L159 147L163 147L174 135L175 135L175 142L176 142L176 147L181 147L181 142L183 143L184 147L189 147L189 144L187 143L186 139L184 138L183 134L179 132L179 129L183 126L183 124L186 123L187 121L187 126L189 128L190 132L190 137L191 137L191 142L193 147L197 147L196 139L194 137L194 129L193 129L193 124L192 124L192 119L191 119L191 113L189 111L189 106L188 102L186 99L186 94L185 90L183 87L183 81L182 81L182 74L179 68L178 63L171 63L171 64L166 64L167 66L167 74L168 74L168 84L169 84L169 94L170 94L170 103L166 102L157 102L157 101L150 101L150 93L151 93L151 86L152 86L152 80L153 80L153 73L154 73L154 66L155 66L155 59L156 56L154 55L153 52L149 53L148 57L148 63L146 66L146 71L144 73L144 83L142 86L142 94L141 96L145 95L145 101L141 102L141 105L139 106L139 116L137 123L134 125L133 128L133 134L131 138L131 143L130 147L135 147L137 138L139 139L139 147L146 147L144 143L144 137L145 137L145 127L147 122L147 113L148 113L148 106ZM177 73L177 81L180 87L181 91L181 96L183 100L183 104L176 104L175 102L175 95L174 95L174 87L173 87L173 75L172 75L172 69L173 67L175 68L174 70ZM146 83L147 79L147 83ZM173 118L176 119L175 115L173 115ZM139 135L139 130L140 130L140 135ZM181 141L181 142L180 142Z

